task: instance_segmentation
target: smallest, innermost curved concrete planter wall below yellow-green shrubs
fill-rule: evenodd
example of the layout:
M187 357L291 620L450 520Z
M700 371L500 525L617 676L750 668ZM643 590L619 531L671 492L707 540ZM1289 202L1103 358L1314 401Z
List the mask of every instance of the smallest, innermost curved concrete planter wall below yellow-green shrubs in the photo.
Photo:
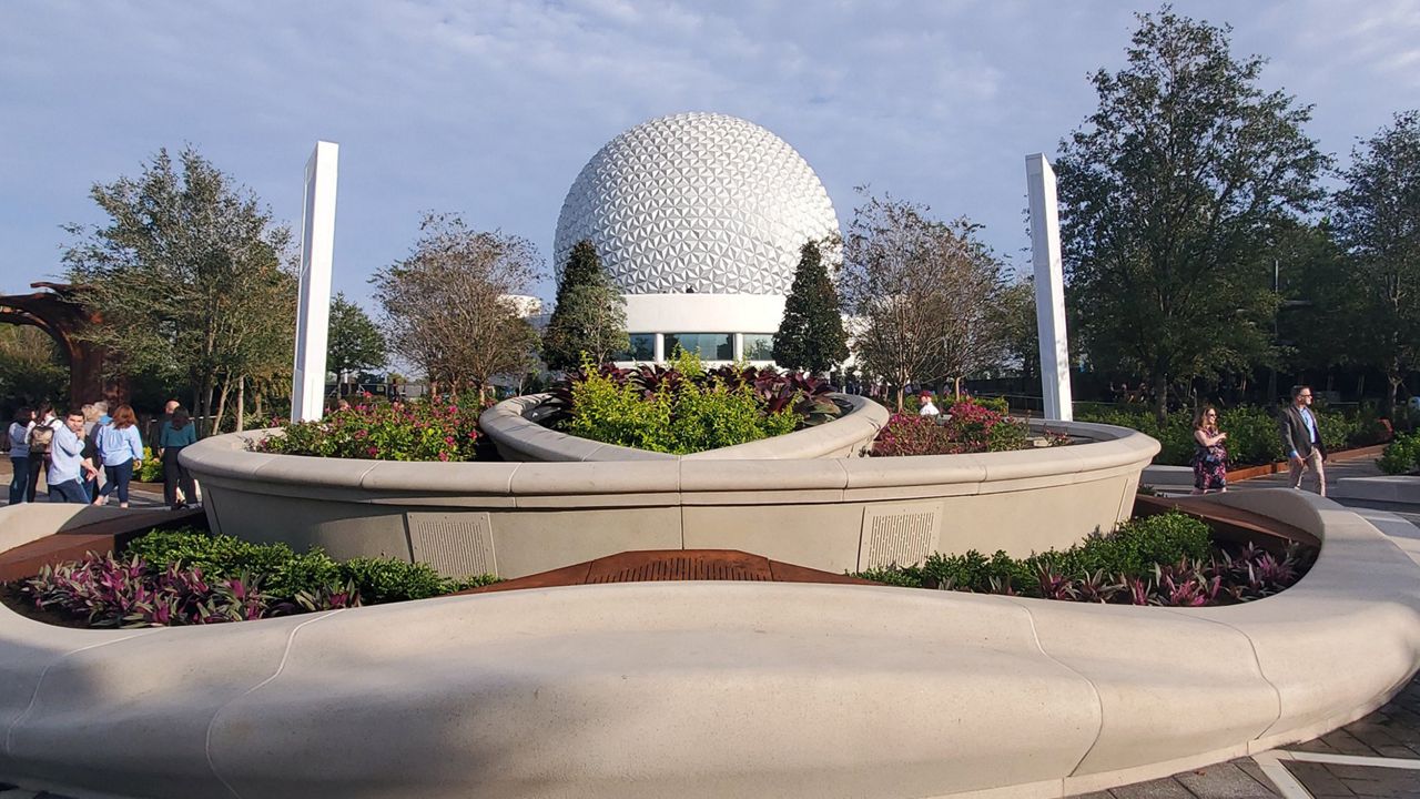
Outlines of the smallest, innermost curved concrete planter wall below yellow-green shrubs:
M479 425L498 446L506 461L562 462L562 461L780 461L788 458L848 458L868 449L890 414L878 402L853 394L834 394L848 405L848 411L828 422L736 446L709 449L692 455L648 452L615 444L577 438L545 428L538 421L547 415L541 408L548 394L531 394L504 400L479 418Z

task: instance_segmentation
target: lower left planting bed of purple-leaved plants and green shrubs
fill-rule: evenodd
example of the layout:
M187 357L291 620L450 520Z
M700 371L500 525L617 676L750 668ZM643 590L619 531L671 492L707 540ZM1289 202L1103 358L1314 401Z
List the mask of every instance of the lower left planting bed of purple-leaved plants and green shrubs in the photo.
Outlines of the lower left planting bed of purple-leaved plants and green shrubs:
M189 527L152 530L116 554L45 566L6 584L0 597L55 624L166 627L427 599L493 581L388 557L337 562L315 547L294 552Z

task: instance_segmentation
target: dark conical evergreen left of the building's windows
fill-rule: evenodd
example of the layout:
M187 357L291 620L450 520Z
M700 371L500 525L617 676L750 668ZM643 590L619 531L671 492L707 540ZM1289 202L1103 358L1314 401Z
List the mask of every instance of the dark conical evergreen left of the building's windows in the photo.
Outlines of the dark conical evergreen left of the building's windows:
M542 360L554 370L581 365L585 353L602 363L630 348L626 299L612 286L586 239L572 246L557 281L557 306L542 333Z

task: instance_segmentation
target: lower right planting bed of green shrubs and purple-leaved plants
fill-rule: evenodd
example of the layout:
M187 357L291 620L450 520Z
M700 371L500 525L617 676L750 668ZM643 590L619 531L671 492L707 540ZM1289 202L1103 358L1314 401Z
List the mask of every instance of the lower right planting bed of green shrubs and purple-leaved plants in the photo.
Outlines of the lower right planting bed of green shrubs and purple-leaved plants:
M1315 547L1274 554L1254 543L1211 539L1208 526L1167 512L1136 518L1108 536L1030 557L933 553L923 563L855 576L893 586L1066 601L1203 607L1272 596L1301 580Z

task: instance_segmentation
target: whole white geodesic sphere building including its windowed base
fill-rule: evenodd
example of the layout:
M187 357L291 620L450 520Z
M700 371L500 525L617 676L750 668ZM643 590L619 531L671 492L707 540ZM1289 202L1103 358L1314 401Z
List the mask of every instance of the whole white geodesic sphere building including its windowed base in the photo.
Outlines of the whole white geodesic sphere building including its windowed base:
M557 220L555 264L588 239L626 296L626 361L676 347L770 361L799 247L835 239L824 183L784 139L723 114L676 114L602 146Z

